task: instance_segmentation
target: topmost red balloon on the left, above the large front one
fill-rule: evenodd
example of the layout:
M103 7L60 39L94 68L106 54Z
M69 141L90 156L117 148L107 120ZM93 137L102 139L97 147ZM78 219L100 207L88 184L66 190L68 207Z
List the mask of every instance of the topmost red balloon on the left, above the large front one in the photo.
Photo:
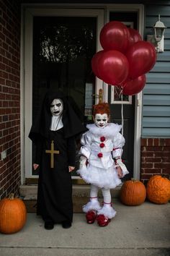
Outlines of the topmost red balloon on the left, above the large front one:
M104 50L116 50L124 53L130 40L128 27L122 22L108 22L100 32L100 43Z

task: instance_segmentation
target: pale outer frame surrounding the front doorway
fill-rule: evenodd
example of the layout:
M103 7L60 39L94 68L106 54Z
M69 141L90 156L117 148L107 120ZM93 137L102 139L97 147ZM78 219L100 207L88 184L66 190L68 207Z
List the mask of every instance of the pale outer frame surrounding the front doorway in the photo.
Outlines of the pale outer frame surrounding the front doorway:
M109 12L117 10L138 12L138 30L143 35L144 7L142 4L22 4L22 33L21 33L21 182L25 178L37 178L30 174L32 170L32 142L28 138L32 124L32 25L33 16L82 16L97 17L97 51L102 50L99 43L99 31L108 21ZM27 27L27 30L25 30ZM95 93L103 90L104 101L108 101L108 85L96 78ZM96 98L98 103L98 98ZM135 95L135 137L134 137L134 178L140 178L140 134L142 116L142 93Z

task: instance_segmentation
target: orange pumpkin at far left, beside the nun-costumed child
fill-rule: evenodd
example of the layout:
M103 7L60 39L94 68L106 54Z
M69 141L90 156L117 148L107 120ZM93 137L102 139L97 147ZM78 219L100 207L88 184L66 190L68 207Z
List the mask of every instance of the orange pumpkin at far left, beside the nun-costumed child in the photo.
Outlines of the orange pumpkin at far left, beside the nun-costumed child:
M27 210L21 199L10 194L0 200L0 232L13 234L23 228L27 220Z

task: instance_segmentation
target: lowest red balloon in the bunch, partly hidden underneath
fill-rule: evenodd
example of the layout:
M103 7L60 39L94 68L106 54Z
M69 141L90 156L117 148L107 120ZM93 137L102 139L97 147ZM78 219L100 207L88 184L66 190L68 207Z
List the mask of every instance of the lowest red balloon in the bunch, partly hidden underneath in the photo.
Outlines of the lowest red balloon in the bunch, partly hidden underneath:
M122 94L124 95L135 95L140 93L146 85L146 75L142 74L140 77L134 80L128 80L123 84Z

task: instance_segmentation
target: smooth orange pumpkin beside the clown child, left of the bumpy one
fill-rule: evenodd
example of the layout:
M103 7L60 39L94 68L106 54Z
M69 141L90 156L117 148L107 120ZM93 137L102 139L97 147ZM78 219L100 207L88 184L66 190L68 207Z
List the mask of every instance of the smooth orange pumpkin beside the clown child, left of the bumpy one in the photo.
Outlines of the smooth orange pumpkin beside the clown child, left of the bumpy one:
M141 205L146 200L145 185L135 179L124 182L120 189L120 200L125 205Z

